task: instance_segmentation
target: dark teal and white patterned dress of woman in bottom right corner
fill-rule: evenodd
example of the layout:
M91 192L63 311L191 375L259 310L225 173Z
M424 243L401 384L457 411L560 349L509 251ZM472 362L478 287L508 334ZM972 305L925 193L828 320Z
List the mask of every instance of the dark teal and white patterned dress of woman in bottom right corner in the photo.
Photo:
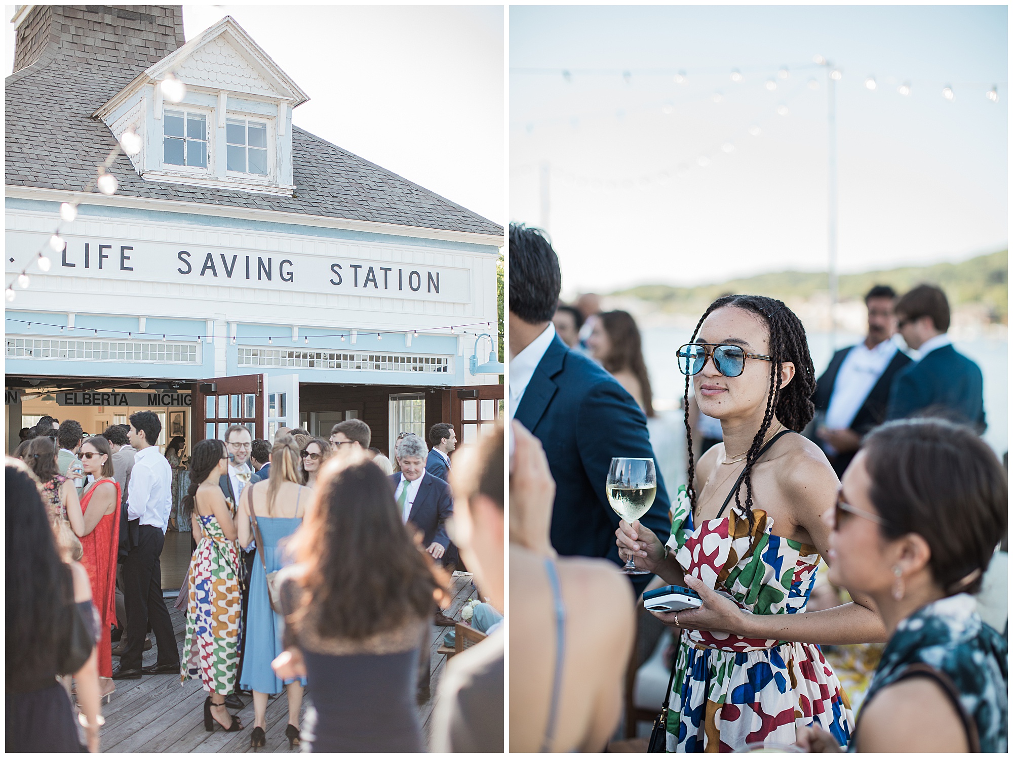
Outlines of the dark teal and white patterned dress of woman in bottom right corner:
M897 625L865 700L871 702L877 691L919 669L931 669L934 678L945 682L959 700L970 752L1005 753L1007 647L999 633L982 621L970 595L936 600ZM852 752L855 742L849 747Z

